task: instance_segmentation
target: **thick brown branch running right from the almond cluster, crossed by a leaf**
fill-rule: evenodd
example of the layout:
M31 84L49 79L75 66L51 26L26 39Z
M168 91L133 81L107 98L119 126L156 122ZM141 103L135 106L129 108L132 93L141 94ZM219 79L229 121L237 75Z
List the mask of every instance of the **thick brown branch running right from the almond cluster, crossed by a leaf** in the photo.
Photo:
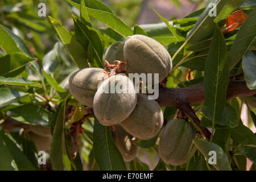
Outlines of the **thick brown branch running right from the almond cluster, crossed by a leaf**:
M229 81L226 99L234 97L253 96L255 90L247 88L244 80ZM177 106L177 102L187 101L190 104L199 104L205 100L203 82L185 88L160 88L159 97L156 100L160 106Z

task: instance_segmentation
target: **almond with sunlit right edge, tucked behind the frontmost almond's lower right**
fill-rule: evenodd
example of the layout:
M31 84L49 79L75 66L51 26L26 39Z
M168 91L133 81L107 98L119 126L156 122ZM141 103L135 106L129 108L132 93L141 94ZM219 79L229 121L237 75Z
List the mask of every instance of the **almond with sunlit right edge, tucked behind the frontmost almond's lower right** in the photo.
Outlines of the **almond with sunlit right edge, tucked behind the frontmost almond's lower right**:
M140 139L155 137L163 126L163 112L155 100L138 94L138 105L120 125L129 134Z

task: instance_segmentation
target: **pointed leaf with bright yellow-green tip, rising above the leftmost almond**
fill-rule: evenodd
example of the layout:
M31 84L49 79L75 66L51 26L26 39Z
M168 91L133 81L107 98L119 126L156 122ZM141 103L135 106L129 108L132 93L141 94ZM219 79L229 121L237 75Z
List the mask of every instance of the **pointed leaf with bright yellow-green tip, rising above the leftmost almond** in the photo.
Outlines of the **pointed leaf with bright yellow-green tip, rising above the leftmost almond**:
M80 69L88 68L88 63L86 60L86 55L84 48L82 48L81 44L76 42L75 39L72 38L71 34L59 23L56 22L51 16L49 16L49 20L55 27L57 34L59 35L61 42L64 44L67 49L69 55L72 57L73 61L76 63L77 67Z

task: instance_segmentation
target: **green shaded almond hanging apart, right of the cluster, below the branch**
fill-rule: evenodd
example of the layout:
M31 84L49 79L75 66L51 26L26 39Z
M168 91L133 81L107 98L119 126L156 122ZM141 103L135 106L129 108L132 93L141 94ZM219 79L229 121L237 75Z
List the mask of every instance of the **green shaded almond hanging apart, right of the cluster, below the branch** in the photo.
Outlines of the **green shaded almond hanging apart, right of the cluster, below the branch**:
M160 133L160 158L173 166L187 162L189 147L195 136L196 131L191 123L184 119L172 119Z

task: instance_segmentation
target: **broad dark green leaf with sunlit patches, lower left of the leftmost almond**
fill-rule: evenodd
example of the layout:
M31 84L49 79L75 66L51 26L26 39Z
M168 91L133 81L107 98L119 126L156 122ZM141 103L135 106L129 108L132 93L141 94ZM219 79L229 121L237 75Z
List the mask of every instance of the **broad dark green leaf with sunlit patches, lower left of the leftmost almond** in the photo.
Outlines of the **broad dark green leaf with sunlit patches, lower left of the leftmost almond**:
M13 117L16 120L33 125L42 125L49 127L50 122L53 118L53 113L44 109L41 106L27 104L20 107L15 107L10 109L15 114L18 114L18 117Z

